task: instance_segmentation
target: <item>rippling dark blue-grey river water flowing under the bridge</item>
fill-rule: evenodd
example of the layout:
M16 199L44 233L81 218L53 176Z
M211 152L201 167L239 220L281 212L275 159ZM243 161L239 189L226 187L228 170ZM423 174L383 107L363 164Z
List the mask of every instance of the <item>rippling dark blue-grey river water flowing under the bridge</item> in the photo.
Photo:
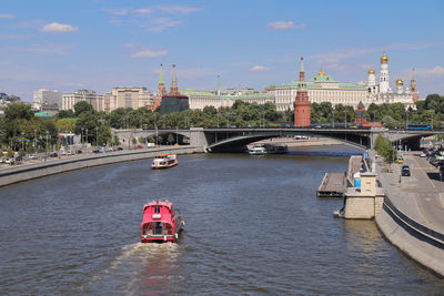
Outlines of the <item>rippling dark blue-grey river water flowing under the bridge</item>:
M150 160L0 188L0 294L438 295L444 280L382 238L373 221L334 218L319 200L346 146L286 155ZM169 198L178 244L141 244L143 204Z

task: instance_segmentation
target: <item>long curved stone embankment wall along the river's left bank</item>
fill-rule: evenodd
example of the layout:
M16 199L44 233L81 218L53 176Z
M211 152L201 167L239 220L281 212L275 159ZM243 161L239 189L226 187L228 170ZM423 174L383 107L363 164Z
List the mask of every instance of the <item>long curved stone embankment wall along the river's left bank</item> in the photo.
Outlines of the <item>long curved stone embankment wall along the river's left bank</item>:
M202 153L203 149L200 146L176 146L119 151L107 154L82 155L77 157L51 160L48 162L29 165L13 166L0 171L0 186L91 166L150 159L155 154L167 152L174 154L191 154Z

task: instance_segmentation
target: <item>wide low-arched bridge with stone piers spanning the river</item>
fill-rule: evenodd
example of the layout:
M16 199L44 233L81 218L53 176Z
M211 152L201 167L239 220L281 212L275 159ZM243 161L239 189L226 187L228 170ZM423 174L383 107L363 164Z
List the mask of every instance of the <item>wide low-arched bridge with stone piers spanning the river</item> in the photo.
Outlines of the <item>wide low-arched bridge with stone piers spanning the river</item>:
M307 135L315 137L329 137L357 146L371 149L377 135L383 134L400 145L403 150L420 149L420 141L424 136L444 134L444 131L411 131L389 130L382 127L371 129L316 129L316 127L191 127L191 129L162 129L162 130L115 130L123 143L131 143L133 137L168 136L173 134L179 143L188 137L191 145L203 146L208 152L236 152L242 151L245 145L272 137Z

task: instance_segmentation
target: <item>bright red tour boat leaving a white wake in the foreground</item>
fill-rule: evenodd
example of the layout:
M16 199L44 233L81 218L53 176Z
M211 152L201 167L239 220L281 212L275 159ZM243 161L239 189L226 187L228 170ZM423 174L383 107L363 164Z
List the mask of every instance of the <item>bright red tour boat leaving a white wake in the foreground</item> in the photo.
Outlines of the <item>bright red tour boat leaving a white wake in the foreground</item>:
M185 225L173 204L164 202L151 202L143 206L143 222L140 225L140 237L142 243L151 242L175 242L182 226Z

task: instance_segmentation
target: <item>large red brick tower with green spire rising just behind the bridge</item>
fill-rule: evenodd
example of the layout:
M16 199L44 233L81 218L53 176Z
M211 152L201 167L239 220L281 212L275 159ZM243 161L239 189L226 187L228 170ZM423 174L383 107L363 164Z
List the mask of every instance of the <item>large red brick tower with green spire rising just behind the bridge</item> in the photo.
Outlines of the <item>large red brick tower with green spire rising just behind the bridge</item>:
M294 100L294 126L310 126L310 108L312 103L309 100L309 93L305 84L304 58L301 58L301 70L299 72L299 86L296 99Z

